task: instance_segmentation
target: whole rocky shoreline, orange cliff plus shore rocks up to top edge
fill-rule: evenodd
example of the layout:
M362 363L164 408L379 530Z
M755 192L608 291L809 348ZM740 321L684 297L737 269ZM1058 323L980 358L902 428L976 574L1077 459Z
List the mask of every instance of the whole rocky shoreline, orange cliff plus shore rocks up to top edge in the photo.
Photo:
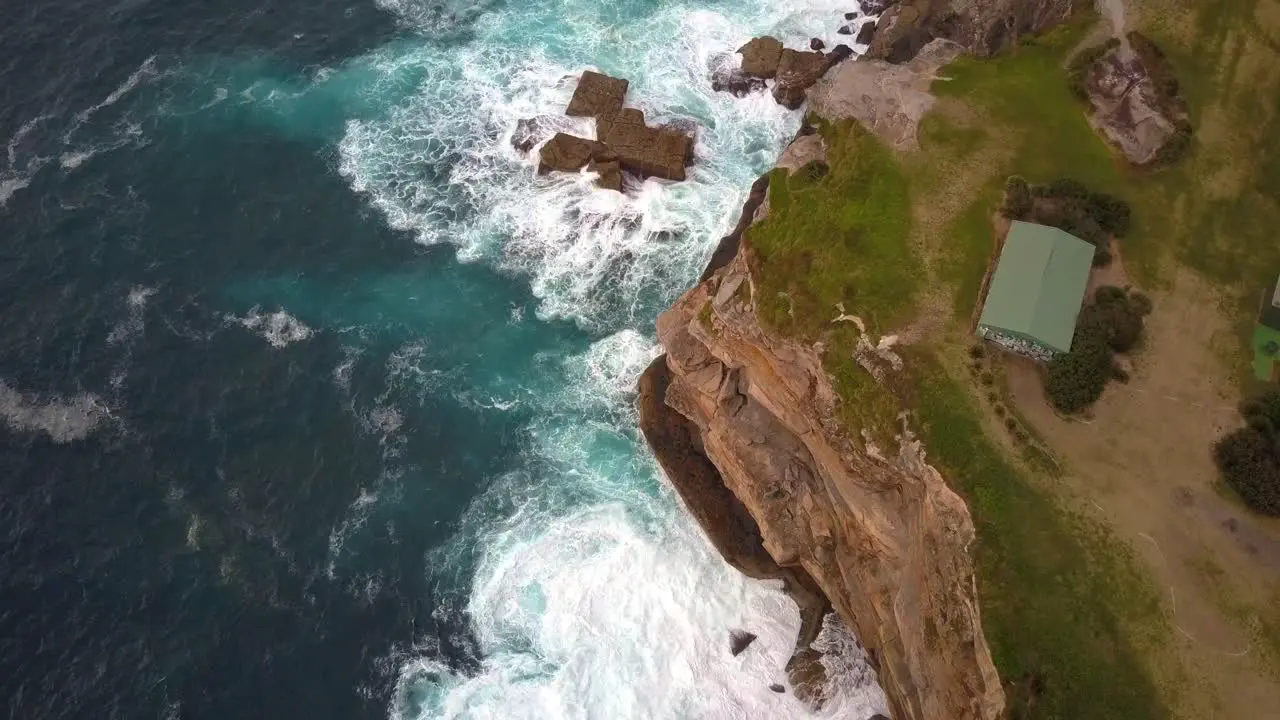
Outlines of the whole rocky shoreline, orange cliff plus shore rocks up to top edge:
M792 50L760 37L739 49L740 67L722 72L718 88L772 85L782 105L808 100L820 119L854 119L910 150L941 65L1062 20L1070 0L902 0L864 12L883 13L863 26L868 58L846 63L845 46ZM810 127L778 167L814 172L824 161ZM666 354L640 379L641 430L724 559L781 579L800 606L804 628L787 666L799 696L822 700L809 643L831 607L867 647L896 719L1001 717L1005 691L983 635L964 501L905 421L888 451L838 420L842 398L823 355L851 352L879 380L901 366L892 341L864 331L856 348L823 347L760 320L750 228L768 214L768 195L764 176L699 283L659 316Z

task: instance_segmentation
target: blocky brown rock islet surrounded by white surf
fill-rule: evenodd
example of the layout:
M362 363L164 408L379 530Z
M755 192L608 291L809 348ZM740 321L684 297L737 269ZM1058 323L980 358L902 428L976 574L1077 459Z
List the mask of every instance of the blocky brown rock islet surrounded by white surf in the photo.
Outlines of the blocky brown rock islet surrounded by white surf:
M645 124L644 113L625 108L627 81L586 70L579 81L566 114L595 118L598 140L557 132L543 145L538 172L573 173L582 168L596 173L596 184L622 190L622 172L671 181L685 179L685 167L694 156L694 138L673 123ZM512 145L527 151L541 127L541 118L520 120Z

